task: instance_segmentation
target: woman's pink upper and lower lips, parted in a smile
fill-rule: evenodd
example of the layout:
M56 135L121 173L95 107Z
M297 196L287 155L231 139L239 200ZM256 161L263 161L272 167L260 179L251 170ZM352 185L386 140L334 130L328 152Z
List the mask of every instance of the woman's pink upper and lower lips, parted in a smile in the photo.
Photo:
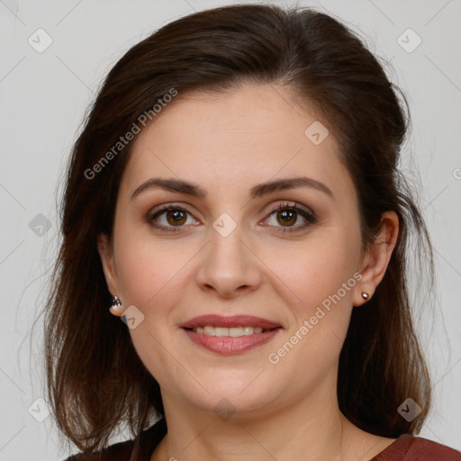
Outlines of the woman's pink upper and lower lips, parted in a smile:
M248 336L240 337L218 337L208 336L205 334L196 333L194 330L185 330L185 334L195 344L216 352L221 355L234 355L245 352L251 348L256 348L267 341L274 338L282 326L274 321L268 321L260 317L252 315L235 315L232 317L222 317L220 315L201 315L186 321L181 325L183 329L194 329L211 325L212 327L260 327L263 330L268 330L262 333L255 333Z

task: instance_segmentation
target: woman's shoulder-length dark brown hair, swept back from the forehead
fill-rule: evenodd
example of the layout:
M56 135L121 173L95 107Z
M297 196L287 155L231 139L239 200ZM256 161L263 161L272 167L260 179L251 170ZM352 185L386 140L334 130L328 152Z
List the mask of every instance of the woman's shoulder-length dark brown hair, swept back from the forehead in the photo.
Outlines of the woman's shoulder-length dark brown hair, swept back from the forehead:
M94 178L86 172L172 89L184 95L246 83L285 86L334 134L357 188L364 247L382 212L394 211L400 220L383 281L366 307L353 309L339 357L340 410L359 428L391 438L418 432L427 416L429 375L407 287L411 228L431 276L433 262L424 221L397 169L408 104L364 43L330 15L234 5L185 16L132 47L106 77L72 151L45 352L54 417L79 449L107 446L122 421L136 435L164 414L158 383L124 323L108 312L111 297L96 249L98 234L112 235L132 143ZM422 407L412 421L397 412L408 397Z

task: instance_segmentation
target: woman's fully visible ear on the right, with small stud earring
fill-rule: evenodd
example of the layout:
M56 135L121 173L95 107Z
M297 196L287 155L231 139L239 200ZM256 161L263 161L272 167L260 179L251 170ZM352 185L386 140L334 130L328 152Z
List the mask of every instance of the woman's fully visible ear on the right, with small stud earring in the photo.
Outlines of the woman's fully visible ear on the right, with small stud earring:
M381 215L381 227L375 240L366 249L362 259L362 278L357 284L354 294L355 306L366 303L362 293L368 294L368 300L375 293L376 286L383 280L393 249L399 235L399 218L395 212L384 212Z

